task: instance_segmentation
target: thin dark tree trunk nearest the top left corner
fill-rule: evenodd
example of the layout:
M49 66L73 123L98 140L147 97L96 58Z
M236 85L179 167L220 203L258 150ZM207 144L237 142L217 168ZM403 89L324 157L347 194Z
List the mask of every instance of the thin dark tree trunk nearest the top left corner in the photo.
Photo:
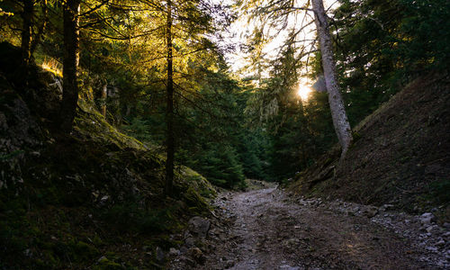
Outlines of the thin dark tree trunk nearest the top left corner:
M22 58L23 64L28 67L31 58L31 26L32 26L32 14L33 14L34 4L33 0L23 1L23 30L22 30Z

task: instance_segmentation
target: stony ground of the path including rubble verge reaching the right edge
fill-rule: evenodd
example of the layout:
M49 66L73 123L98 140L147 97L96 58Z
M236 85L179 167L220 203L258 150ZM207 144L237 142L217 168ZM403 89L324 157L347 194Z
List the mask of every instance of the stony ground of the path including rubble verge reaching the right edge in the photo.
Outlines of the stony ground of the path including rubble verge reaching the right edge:
M221 193L197 252L172 269L444 269L431 243L448 238L429 220L356 203L304 199L277 187ZM185 235L189 235L186 232ZM447 240L447 239L446 239ZM189 250L193 250L193 248Z

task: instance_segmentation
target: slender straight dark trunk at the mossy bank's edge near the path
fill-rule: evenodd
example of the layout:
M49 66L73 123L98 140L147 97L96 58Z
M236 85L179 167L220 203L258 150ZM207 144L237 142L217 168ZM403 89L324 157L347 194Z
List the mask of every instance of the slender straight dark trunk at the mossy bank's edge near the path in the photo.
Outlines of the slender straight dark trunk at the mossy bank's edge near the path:
M174 185L174 156L175 156L175 136L174 136L174 70L172 55L172 2L167 0L167 22L166 22L166 42L167 42L167 85L166 85L166 189L167 196L171 196Z

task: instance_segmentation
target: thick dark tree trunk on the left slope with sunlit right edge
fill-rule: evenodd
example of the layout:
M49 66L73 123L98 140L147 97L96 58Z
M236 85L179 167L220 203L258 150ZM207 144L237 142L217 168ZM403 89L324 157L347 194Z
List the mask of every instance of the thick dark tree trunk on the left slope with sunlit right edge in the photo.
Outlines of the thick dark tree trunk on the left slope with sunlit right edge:
M61 129L67 133L72 130L78 102L79 10L80 0L67 0L64 5L63 94L59 117Z

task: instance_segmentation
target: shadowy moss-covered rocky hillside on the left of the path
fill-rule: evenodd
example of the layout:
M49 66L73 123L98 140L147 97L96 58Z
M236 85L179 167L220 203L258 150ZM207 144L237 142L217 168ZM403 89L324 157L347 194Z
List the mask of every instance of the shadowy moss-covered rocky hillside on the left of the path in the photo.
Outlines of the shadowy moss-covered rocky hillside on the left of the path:
M163 267L172 236L209 212L211 184L180 166L166 199L164 158L104 121L86 85L61 134L58 77L20 59L0 43L0 268Z

